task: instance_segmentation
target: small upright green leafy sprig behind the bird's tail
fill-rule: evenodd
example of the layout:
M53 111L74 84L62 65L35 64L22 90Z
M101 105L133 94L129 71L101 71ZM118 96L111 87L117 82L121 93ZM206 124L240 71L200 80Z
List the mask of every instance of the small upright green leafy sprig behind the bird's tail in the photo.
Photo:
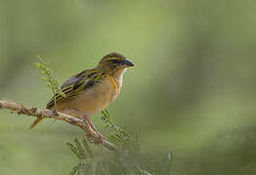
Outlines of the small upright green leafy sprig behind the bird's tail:
M41 58L40 55L36 55L36 57L38 58L39 62L36 62L35 66L41 70L41 74L43 75L42 79L47 83L47 86L51 88L53 96L56 93L59 93L65 97L65 94L60 88L58 81L53 76L53 71L47 67L46 62ZM55 96L54 101L55 111L57 111L57 101Z

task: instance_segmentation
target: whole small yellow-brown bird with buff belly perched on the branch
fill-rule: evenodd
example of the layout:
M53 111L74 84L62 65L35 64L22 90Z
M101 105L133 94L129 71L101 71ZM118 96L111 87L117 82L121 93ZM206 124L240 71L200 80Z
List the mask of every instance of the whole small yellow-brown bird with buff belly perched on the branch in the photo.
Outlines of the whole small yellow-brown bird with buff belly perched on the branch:
M85 119L103 141L104 137L97 131L91 117L106 109L117 97L126 68L132 66L134 64L124 55L109 53L100 60L96 68L84 70L67 79L61 87L65 95L55 94L46 109L54 110L56 99L58 112ZM30 128L42 119L37 118Z

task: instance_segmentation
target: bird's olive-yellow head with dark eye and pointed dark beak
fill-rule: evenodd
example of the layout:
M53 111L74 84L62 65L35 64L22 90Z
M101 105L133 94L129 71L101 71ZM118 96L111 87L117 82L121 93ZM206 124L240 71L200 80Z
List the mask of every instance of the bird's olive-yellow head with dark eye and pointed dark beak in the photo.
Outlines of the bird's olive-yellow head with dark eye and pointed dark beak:
M124 55L119 53L109 53L105 55L98 64L98 68L107 74L114 75L123 72L127 67L133 67L134 64Z

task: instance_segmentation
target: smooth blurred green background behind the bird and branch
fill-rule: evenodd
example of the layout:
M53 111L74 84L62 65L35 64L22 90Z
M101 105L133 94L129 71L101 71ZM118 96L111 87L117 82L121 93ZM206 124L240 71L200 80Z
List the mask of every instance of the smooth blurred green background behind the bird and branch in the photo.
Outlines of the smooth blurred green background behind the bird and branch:
M40 54L61 83L110 52L136 67L107 109L172 174L256 173L256 1L0 0L0 98L43 108ZM68 174L84 133L0 111L0 174ZM104 133L99 116L94 123Z

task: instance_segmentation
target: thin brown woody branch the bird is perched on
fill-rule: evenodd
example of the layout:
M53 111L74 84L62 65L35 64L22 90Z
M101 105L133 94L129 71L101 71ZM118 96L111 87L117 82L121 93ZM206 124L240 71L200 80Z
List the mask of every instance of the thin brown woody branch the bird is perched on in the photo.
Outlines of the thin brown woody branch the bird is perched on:
M76 125L83 129L87 133L87 137L93 140L95 143L99 143L99 136L87 125L84 123L83 119L75 118L73 116L66 115L64 113L56 113L52 110L41 110L35 107L24 106L20 103L16 103L8 100L0 100L0 109L8 109L12 112L15 112L19 115L31 116L36 118L50 118L57 121L64 121L72 125ZM117 151L117 148L107 140L102 143L108 150Z

